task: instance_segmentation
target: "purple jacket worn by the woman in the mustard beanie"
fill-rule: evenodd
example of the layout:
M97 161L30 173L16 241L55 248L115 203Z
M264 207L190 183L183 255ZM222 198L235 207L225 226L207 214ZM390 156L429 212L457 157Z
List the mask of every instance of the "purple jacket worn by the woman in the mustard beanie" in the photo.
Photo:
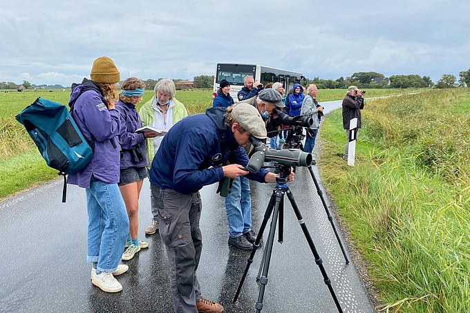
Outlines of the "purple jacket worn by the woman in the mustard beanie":
M82 88L86 86L81 84L73 88L71 102L78 97ZM82 171L68 176L68 183L89 188L92 175L103 182L118 183L120 176L118 134L121 123L119 111L108 110L100 91L90 90L78 97L73 106L73 118L83 135L93 143L93 157Z

